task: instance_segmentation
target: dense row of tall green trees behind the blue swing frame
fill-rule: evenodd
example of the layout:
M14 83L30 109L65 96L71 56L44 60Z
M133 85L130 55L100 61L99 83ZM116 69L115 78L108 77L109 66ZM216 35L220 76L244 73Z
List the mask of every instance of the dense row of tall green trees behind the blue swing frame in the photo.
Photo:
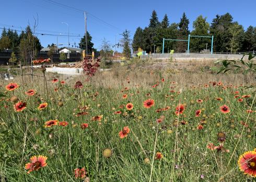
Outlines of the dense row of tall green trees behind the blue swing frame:
M216 53L234 53L237 51L256 50L256 27L250 26L245 31L233 17L226 13L216 15L212 22L200 15L193 21L193 29L189 30L189 19L183 12L180 22L170 23L167 14L161 22L158 21L157 12L153 10L148 27L138 27L133 37L132 48L137 51L139 47L147 53L153 53L154 47L162 50L163 38L188 40L188 35L214 36L213 51ZM211 38L191 37L190 51L199 53L206 49L211 50ZM187 51L188 42L166 41L165 53L174 49L177 53Z

